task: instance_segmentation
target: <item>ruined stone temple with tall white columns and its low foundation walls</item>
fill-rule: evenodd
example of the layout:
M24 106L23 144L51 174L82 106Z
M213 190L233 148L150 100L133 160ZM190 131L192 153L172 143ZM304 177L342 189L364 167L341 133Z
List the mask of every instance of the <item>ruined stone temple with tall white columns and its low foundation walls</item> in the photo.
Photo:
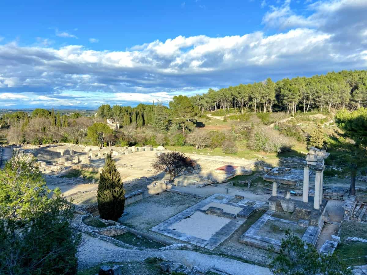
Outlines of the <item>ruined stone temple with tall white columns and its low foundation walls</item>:
M276 221L295 226L307 228L302 240L308 243L315 244L320 232L323 228L325 221L328 221L328 213L326 212L327 200L323 199L323 172L324 172L324 160L330 154L325 150L319 150L315 147L311 147L309 153L306 156L306 164L302 175L302 170L297 170L296 173L291 173L290 168L274 168L264 176L264 180L273 180L272 196L268 199L269 210L256 221L241 237L240 242L248 245L258 246L261 248L267 248L269 245L273 245L276 251L280 249L280 241L272 239L259 234L259 230L267 223L268 220ZM309 198L309 175L310 166L315 168L315 196ZM301 171L301 172L300 172ZM290 190L286 190L284 197L278 196L278 184L283 180L283 183L292 187L296 180L303 176L303 193L302 201L291 199ZM288 181L288 182L284 182ZM293 184L290 184L293 183ZM283 184L284 185L284 184ZM367 206L366 206L367 209ZM298 220L298 222L292 220L284 220L273 217L275 212L289 212L292 213L292 220Z

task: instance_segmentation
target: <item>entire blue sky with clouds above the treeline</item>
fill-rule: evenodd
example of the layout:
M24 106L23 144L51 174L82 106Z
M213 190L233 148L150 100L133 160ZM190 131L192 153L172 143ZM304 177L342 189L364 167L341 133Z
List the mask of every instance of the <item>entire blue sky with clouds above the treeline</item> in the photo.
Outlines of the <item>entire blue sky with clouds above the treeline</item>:
M366 14L366 0L1 1L0 109L366 69Z

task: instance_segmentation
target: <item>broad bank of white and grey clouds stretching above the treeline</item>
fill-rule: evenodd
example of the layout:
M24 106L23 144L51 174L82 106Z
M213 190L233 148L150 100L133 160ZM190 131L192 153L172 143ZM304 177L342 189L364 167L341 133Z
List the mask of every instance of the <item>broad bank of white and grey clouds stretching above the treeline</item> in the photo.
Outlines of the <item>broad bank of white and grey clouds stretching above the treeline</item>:
M367 2L318 1L306 8L311 11L308 17L296 14L290 1L270 7L263 18L267 27L279 28L288 21L292 27L269 36L177 36L124 51L0 44L0 93L33 92L38 98L32 104L50 98L64 105L168 102L175 93L195 94L269 76L277 80L365 69ZM76 93L65 91L79 93L71 97Z

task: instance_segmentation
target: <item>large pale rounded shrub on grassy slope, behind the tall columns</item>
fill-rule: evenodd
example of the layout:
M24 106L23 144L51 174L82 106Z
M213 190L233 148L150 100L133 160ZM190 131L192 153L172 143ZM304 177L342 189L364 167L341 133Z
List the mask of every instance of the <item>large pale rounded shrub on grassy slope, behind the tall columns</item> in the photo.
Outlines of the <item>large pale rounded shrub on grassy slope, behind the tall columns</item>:
M280 153L290 150L291 140L281 136L279 132L266 127L258 127L251 132L247 146L254 151Z

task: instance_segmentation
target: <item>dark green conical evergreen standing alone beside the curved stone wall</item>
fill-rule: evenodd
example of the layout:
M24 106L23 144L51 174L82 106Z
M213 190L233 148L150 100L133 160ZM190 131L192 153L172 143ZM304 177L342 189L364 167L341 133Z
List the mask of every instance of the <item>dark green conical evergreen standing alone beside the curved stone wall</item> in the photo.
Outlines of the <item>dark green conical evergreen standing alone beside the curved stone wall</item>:
M125 189L111 154L107 155L99 174L97 201L102 219L117 221L124 213Z

